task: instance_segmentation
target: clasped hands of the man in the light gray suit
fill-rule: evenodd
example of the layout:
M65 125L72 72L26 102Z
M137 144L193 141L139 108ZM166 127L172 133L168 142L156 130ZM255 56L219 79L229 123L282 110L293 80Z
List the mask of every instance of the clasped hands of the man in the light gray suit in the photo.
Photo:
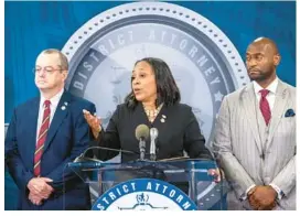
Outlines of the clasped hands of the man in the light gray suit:
M277 192L270 185L255 186L247 196L255 210L271 210L276 207Z

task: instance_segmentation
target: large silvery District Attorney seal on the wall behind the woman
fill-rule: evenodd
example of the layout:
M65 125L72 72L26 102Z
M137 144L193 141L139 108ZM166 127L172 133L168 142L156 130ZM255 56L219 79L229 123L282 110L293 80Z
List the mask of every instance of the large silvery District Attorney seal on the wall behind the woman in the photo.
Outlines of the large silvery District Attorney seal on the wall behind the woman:
M242 57L216 25L165 2L133 2L107 10L77 30L63 53L69 61L66 88L96 104L104 127L130 91L135 62L162 58L208 145L223 96L249 82Z

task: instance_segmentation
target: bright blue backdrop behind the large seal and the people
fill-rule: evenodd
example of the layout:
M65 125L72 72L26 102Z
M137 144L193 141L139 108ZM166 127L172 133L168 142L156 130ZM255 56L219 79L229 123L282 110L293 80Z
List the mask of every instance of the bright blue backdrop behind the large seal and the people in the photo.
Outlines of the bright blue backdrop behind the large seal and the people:
M4 4L4 119L19 104L38 95L32 68L44 48L63 48L68 39L97 14L127 2L14 2ZM214 23L243 60L258 36L272 39L282 60L278 76L296 85L296 2L174 1ZM98 109L98 107L97 107ZM15 207L17 190L6 173L6 209Z

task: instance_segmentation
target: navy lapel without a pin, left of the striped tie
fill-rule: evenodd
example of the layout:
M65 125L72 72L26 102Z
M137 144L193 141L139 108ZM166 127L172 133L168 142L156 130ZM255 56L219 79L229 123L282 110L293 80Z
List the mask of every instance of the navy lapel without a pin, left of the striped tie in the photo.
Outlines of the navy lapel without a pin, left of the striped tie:
M34 163L34 152L35 152L35 145L36 145L36 130L38 129L38 118L39 118L39 109L40 109L40 97L33 100L33 102L30 105L30 110L25 116L28 117L28 122L31 122L28 125L28 131L29 131L29 156L30 161L32 161L32 168Z

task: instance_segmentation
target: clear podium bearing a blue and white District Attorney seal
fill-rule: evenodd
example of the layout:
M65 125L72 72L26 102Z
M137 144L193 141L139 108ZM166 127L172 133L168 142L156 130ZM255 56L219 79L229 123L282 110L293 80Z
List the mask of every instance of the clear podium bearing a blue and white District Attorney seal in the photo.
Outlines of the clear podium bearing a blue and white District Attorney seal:
M99 197L92 203L92 209L171 209L167 205L169 201L165 199L165 204L160 201L162 195L170 202L173 199L181 209L226 209L226 182L215 183L207 174L208 169L216 168L214 161L92 161L68 163L67 166L85 183L98 185ZM122 197L125 195L128 197ZM118 206L111 207L113 203Z

